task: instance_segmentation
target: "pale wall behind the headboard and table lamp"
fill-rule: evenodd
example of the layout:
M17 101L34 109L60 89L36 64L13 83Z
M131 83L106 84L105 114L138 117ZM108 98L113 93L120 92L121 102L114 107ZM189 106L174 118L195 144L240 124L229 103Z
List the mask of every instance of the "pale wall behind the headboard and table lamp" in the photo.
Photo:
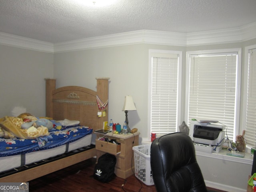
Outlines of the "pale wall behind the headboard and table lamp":
M54 55L54 77L57 87L79 85L93 90L95 77L109 77L109 118L123 124L124 96L132 95L137 111L128 112L129 126L140 131L144 127L143 135L148 111L147 56L143 44L58 53Z

